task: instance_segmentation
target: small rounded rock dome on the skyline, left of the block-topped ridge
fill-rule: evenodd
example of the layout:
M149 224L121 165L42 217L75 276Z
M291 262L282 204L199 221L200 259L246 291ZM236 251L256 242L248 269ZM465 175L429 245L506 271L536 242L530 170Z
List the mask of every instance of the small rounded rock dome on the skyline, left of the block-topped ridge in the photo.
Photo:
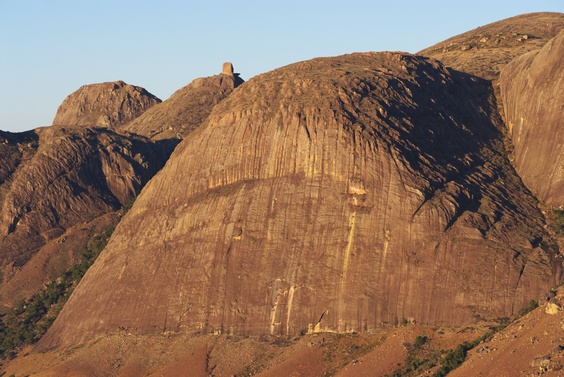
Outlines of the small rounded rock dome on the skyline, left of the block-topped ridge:
M123 81L85 85L65 98L53 124L114 128L132 121L160 102L145 89Z

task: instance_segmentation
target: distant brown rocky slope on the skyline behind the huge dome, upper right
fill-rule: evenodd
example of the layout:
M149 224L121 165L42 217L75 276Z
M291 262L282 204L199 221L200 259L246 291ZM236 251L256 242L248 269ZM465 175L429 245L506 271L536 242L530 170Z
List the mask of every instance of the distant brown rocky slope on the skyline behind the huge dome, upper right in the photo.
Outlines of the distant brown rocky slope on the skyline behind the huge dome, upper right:
M530 13L494 22L418 52L448 67L497 79L514 58L540 49L564 28L563 13Z

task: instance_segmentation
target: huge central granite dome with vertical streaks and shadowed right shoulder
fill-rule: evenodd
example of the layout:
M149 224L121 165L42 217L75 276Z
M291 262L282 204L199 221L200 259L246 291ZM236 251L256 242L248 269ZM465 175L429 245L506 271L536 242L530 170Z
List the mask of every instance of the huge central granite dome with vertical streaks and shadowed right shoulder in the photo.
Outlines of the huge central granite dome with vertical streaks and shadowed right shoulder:
M39 349L118 327L292 336L517 311L560 260L493 101L397 53L251 79L146 186Z

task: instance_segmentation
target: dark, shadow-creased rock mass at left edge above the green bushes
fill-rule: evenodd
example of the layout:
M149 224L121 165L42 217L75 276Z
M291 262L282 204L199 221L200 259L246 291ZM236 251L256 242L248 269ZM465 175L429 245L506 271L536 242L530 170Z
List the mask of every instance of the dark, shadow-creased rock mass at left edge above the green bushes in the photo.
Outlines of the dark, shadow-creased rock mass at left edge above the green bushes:
M145 138L89 127L52 126L3 139L13 153L2 162L14 162L3 165L0 181L2 304L14 299L5 289L13 293L7 286L44 245L120 208L168 157ZM45 276L36 278L41 284Z

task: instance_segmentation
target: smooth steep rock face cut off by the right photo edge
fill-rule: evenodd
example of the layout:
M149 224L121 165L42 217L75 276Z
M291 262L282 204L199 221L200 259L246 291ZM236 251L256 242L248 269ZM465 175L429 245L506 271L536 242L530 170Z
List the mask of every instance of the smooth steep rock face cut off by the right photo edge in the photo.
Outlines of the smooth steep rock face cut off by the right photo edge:
M564 31L502 71L506 123L523 182L548 205L564 206Z

